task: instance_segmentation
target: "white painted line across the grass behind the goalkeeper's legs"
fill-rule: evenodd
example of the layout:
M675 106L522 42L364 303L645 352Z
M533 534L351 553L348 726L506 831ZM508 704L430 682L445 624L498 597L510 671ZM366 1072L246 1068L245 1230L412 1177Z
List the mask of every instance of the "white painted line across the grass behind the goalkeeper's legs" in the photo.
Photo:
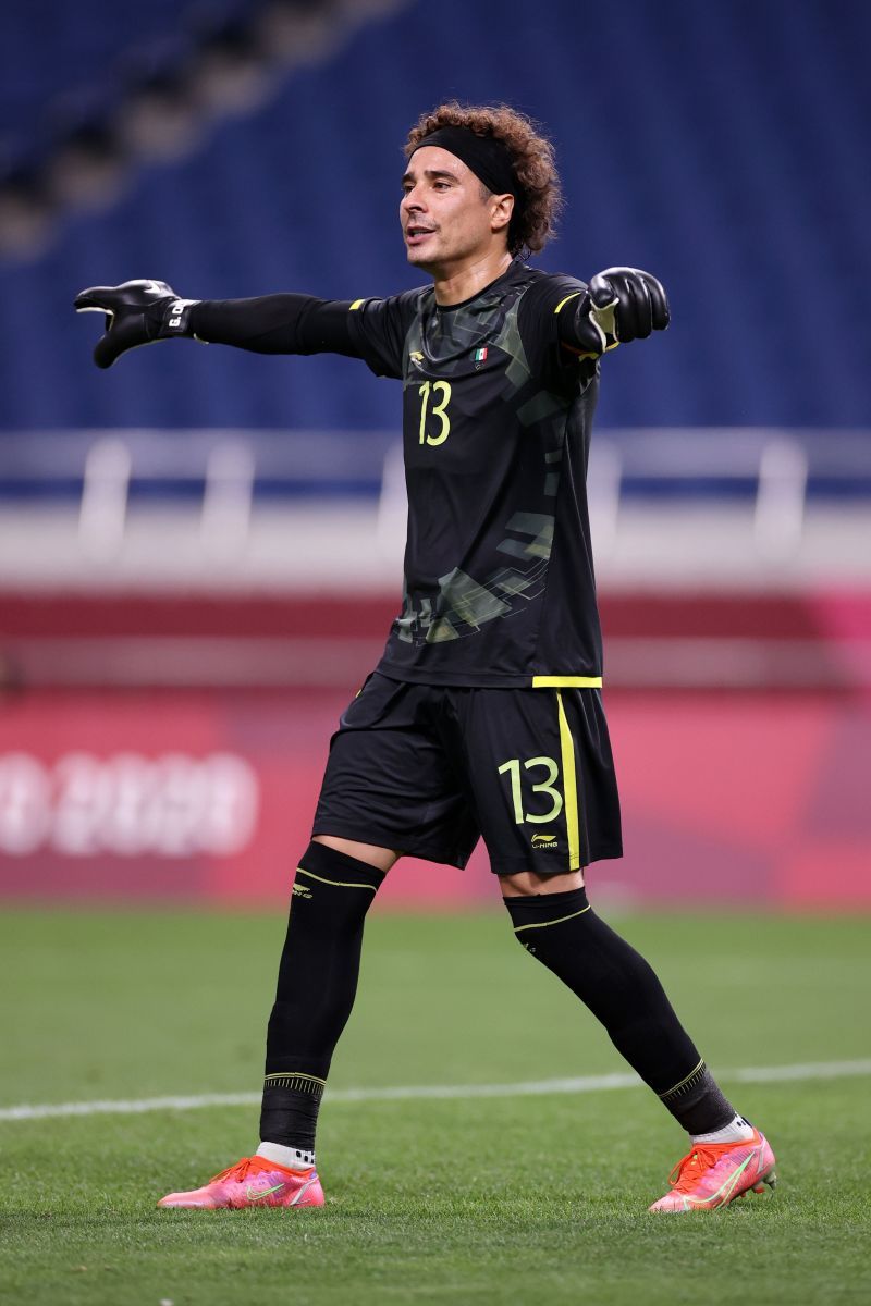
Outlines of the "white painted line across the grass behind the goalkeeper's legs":
M850 1079L871 1075L871 1060L802 1062L797 1066L744 1066L718 1071L733 1084L785 1084L811 1079ZM541 1079L518 1084L410 1084L397 1088L326 1091L329 1102L400 1102L414 1098L546 1097L552 1093L595 1093L615 1088L641 1088L637 1075L584 1075L580 1079ZM141 1101L57 1102L3 1106L3 1121L44 1121L68 1115L141 1115L145 1111L195 1111L204 1106L257 1106L260 1093L201 1093L197 1097L146 1097Z

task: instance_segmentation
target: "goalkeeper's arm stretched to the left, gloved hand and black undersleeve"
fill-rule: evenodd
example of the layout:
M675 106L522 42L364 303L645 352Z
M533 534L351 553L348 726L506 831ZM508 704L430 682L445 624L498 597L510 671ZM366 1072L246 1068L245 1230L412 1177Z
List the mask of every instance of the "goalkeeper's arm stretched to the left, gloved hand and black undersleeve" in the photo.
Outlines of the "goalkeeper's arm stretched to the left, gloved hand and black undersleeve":
M350 300L313 295L180 299L165 281L125 281L82 290L74 307L104 315L104 333L94 349L98 367L111 367L127 350L174 336L259 354L362 357L351 338Z

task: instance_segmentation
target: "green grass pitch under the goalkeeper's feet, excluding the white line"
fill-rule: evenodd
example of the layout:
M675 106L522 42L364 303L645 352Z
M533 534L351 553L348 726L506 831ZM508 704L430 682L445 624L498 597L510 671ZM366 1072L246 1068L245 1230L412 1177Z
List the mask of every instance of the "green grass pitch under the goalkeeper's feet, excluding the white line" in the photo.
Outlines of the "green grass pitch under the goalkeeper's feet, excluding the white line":
M650 1216L683 1136L644 1088L341 1101L323 1211L158 1212L253 1149L256 1107L0 1118L0 1301L51 1306L864 1303L870 1081L730 1083L871 1054L867 922L616 922L659 970L781 1183ZM256 1092L274 916L12 912L0 923L0 1106ZM376 916L334 1089L624 1070L593 1019L487 914Z

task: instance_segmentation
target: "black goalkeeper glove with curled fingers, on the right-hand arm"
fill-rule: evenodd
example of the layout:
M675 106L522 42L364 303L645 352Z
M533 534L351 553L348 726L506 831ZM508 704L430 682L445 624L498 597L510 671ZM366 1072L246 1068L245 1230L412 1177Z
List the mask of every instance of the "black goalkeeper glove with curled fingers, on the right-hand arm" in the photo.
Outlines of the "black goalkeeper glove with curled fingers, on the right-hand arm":
M646 340L652 330L665 330L669 300L649 272L606 268L590 279L575 325L582 347L605 354L627 341Z

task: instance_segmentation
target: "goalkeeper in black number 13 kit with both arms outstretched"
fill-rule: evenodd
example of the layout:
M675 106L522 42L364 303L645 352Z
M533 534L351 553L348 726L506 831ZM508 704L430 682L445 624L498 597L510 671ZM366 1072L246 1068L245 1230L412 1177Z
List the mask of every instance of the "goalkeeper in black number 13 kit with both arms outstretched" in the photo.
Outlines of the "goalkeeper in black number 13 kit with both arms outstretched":
M196 337L329 351L402 381L405 599L333 739L266 1036L260 1145L161 1207L320 1205L317 1110L356 990L363 923L404 854L465 866L483 837L518 942L602 1023L689 1136L652 1211L713 1209L774 1183L648 963L590 906L620 857L585 495L599 360L669 325L659 282L528 266L559 208L554 151L507 107L443 104L405 146L400 221L431 283L389 299L191 300L94 287L99 367Z

